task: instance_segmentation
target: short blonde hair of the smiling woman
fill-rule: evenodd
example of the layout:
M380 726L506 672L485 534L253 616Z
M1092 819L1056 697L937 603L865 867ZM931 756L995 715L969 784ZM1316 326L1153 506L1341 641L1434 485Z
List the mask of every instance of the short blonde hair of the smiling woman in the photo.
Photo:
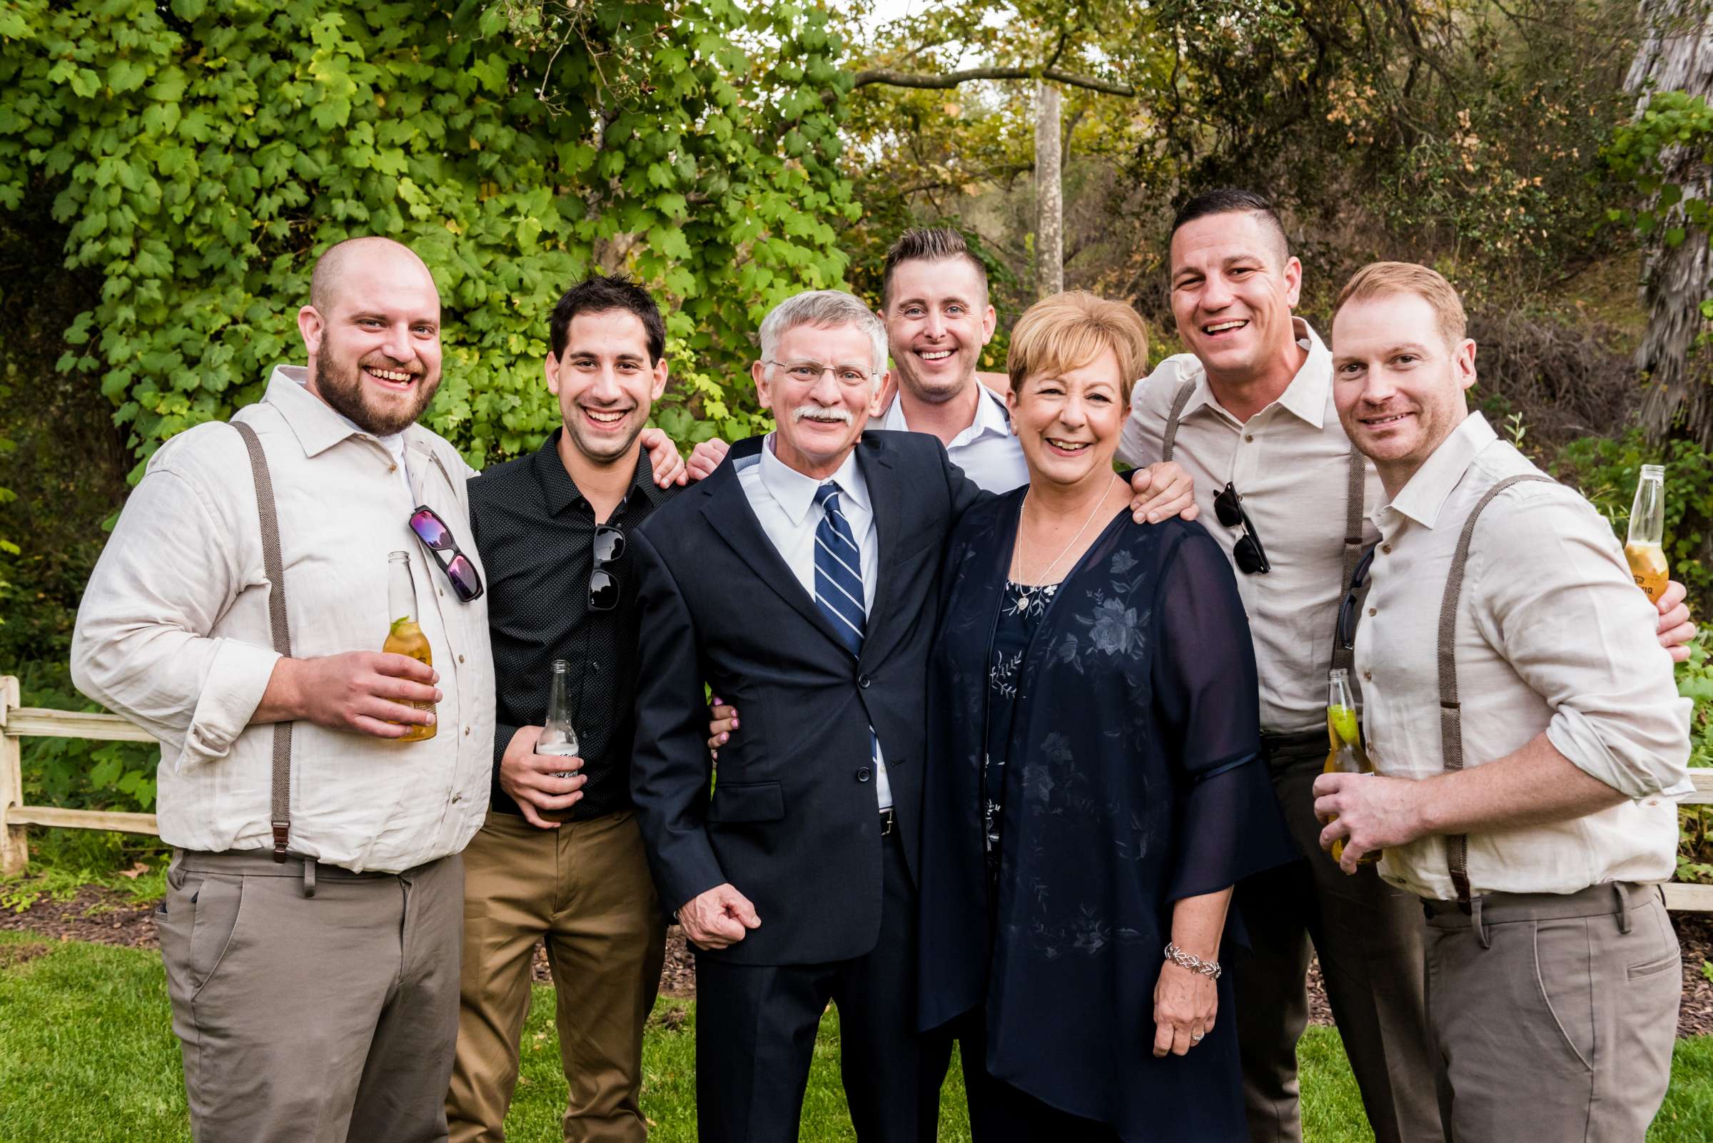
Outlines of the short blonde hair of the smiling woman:
M1148 371L1148 325L1141 315L1086 289L1042 298L1011 330L1011 392L1021 394L1024 378L1083 368L1107 349L1119 359L1119 395L1129 406L1131 385Z

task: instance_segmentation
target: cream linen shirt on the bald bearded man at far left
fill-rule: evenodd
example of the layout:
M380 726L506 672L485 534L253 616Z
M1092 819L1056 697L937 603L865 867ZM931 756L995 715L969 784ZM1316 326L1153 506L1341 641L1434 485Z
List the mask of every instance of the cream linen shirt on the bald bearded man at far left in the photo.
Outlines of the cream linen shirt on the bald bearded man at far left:
M409 489L375 436L281 366L235 419L262 441L279 510L291 652L380 650L387 553L409 551L416 609L440 672L439 734L392 743L298 722L291 849L349 869L401 871L459 852L481 825L493 768L486 599L464 604L409 529L418 503L469 536L457 452L404 431ZM415 496L415 500L411 500ZM266 849L272 727L248 725L278 655L248 452L202 424L149 460L77 609L72 678L161 739L161 838L194 850ZM543 681L545 686L545 681Z

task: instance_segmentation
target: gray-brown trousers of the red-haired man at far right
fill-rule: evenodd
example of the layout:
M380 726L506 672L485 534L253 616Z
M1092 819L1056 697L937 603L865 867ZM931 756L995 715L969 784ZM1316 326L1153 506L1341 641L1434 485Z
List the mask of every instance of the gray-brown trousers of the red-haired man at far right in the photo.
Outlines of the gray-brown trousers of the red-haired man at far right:
M1427 1011L1456 1143L1641 1143L1682 960L1653 885L1430 902Z

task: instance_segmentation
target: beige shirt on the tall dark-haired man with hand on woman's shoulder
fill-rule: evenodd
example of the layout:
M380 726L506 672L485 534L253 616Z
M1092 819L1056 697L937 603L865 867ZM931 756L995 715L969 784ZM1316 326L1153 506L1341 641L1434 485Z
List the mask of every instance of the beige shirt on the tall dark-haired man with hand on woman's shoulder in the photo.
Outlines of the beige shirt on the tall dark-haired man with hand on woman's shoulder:
M1309 323L1295 318L1309 351L1276 402L1238 421L1215 399L1194 354L1167 358L1131 392L1119 440L1125 464L1160 460L1167 416L1184 380L1196 390L1179 419L1173 460L1196 479L1201 524L1225 549L1240 529L1220 524L1213 498L1227 483L1244 496L1273 570L1237 573L1261 674L1261 729L1298 734L1326 727L1326 671L1333 664L1340 589L1345 578L1345 510L1350 438L1333 407L1333 356ZM1364 462L1364 520L1384 500L1374 465ZM1374 529L1364 524L1364 544ZM1233 561L1235 570L1235 561Z

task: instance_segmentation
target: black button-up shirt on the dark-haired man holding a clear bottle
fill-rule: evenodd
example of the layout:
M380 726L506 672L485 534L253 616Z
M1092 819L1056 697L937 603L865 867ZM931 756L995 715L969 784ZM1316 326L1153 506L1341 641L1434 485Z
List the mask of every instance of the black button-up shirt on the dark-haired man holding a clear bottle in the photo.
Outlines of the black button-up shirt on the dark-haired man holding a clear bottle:
M582 801L548 818L582 820L630 806L630 746L636 734L637 585L630 546L606 570L618 580L618 606L589 611L594 570L594 508L558 457L555 429L540 450L469 481L469 518L488 585L497 717L493 809L521 814L500 789L500 758L517 727L546 720L553 660L570 662L570 714L582 756ZM678 488L658 488L648 453L612 518L630 532Z

